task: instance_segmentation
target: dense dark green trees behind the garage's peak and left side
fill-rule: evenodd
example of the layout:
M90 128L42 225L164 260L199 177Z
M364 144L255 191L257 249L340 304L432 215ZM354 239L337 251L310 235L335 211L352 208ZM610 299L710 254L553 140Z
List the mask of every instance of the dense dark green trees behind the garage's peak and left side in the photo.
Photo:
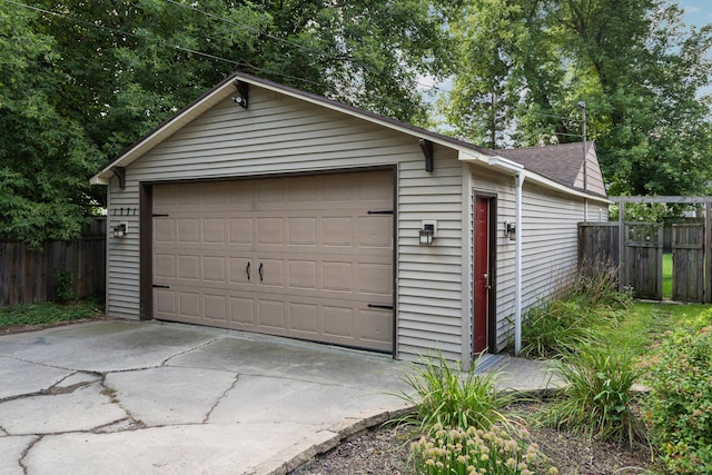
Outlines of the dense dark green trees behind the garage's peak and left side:
M0 2L0 235L78 236L89 177L235 69L407 121L447 63L431 0Z

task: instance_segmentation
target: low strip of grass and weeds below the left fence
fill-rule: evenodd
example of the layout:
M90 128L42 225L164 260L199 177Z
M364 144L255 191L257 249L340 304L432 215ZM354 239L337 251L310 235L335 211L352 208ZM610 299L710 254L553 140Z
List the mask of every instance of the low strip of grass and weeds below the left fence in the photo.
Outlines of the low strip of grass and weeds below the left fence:
M72 305L50 301L10 305L0 307L0 328L97 318L102 314L102 305L96 298L88 298Z

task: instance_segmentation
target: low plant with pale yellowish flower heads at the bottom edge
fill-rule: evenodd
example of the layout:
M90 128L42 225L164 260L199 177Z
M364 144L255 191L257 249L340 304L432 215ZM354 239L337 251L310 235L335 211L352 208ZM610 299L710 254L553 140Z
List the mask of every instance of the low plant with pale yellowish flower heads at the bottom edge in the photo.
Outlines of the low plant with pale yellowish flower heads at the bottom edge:
M411 445L414 473L424 475L555 475L555 467L544 467L546 457L536 444L515 439L497 427L490 431L468 427L434 426L432 436ZM525 431L520 437L526 438Z

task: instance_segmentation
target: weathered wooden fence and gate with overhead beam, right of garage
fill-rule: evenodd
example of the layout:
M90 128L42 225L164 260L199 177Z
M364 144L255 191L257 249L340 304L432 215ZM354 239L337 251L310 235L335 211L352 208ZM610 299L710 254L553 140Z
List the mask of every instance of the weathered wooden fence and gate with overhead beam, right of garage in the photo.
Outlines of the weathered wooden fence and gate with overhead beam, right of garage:
M625 197L625 202L694 202L705 205L704 222L672 226L672 298L712 303L712 197ZM622 230L622 231L621 231ZM621 286L635 297L663 298L663 225L651 222L578 224L578 261L619 267Z

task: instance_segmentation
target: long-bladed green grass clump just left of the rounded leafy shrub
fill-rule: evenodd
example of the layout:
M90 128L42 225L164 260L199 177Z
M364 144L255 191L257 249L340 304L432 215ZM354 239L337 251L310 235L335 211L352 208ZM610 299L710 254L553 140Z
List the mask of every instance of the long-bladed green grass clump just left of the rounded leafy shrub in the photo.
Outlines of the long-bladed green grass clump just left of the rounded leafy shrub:
M633 356L607 346L587 345L554 363L554 373L564 383L544 422L590 438L617 441L630 446L645 439L643 423L633 412L633 383L641 369Z

